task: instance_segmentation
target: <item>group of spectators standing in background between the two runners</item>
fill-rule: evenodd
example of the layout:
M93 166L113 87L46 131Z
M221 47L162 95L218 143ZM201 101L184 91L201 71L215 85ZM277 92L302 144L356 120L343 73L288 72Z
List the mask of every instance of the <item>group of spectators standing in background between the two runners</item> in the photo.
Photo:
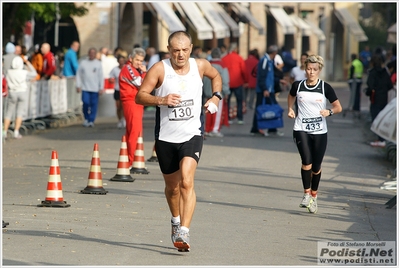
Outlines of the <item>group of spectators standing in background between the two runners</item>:
M273 50L266 53L266 55L271 56L270 62L272 63L271 67L273 68L273 77L271 81L273 85L271 85L271 96L266 96L266 98L268 101L270 98L273 98L272 101L277 101L277 96L282 91L282 87L288 86L289 84L285 80L285 76L287 76L287 74L291 76L292 83L298 79L304 79L305 70L303 61L301 66L291 66L288 69L284 69L284 66L286 66L285 61L278 53L278 47L273 45L269 48ZM285 58L290 58L290 53L287 51L283 51L282 53L285 53ZM219 70L223 77L223 82L227 80L227 86L224 85L223 88L228 87L228 90L222 90L224 100L219 103L220 107L218 112L216 114L207 114L205 135L222 137L223 134L220 132L221 126L229 126L230 124L233 124L234 118L236 118L237 124L245 124L244 113L247 107L249 109L255 109L255 106L259 105L259 103L256 103L256 100L259 99L259 96L257 96L256 92L260 81L257 76L258 64L261 58L258 49L255 48L250 50L247 59L244 60L243 57L238 54L237 43L231 43L228 50L224 45L220 46L219 48L206 48L204 50L202 50L199 46L194 46L191 57L208 59L218 70L221 68L227 71L224 73ZM204 79L203 87L204 96L207 98L209 97L209 92L211 92L211 90L209 88L209 81L207 81L206 78ZM234 108L231 105L231 97L233 97L233 95L236 99L236 107ZM260 98L258 101L261 102L262 99ZM268 135L268 133L265 133L264 130L258 130L257 126L254 124L256 124L256 122L253 122L253 126L251 128L252 134L260 133L262 135ZM284 134L277 130L270 130L270 133L275 133L280 136Z

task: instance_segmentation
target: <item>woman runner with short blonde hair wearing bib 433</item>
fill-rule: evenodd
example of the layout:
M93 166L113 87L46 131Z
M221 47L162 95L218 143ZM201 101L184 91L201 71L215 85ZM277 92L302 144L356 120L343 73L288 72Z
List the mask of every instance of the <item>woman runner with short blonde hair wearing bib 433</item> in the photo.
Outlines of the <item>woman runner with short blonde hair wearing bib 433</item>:
M327 149L326 117L340 113L342 106L331 85L319 79L324 59L311 55L304 64L307 78L292 84L287 98L288 117L295 119L293 139L302 160L304 195L299 207L316 213L321 164ZM295 102L297 108L294 110ZM327 102L332 106L330 109L327 109Z

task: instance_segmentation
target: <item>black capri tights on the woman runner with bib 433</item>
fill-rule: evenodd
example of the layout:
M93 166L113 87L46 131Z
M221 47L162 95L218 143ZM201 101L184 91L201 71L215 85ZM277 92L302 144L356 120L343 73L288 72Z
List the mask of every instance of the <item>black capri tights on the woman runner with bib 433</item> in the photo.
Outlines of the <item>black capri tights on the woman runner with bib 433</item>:
M313 173L318 173L327 149L327 133L308 134L304 131L294 130L293 137L302 159L302 165L312 165Z

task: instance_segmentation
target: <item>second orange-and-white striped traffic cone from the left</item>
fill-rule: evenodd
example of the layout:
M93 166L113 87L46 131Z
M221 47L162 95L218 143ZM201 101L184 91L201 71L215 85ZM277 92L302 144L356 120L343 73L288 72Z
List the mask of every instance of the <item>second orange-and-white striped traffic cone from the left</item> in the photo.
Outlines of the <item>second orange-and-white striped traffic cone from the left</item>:
M93 157L89 172L87 187L80 191L82 194L106 194L108 191L103 188L103 178L101 174L100 152L98 144L94 144Z

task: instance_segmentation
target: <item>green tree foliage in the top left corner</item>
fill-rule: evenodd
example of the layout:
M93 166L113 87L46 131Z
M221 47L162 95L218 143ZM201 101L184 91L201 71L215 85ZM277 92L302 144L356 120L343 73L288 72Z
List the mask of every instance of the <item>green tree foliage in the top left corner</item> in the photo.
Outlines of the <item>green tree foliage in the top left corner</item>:
M69 16L84 16L88 9L86 4L75 6L74 3L58 3L59 18ZM56 3L7 3L3 2L3 45L10 41L10 36L14 34L15 40L22 38L25 22L32 16L35 19L43 20L45 23L52 24L57 19Z

